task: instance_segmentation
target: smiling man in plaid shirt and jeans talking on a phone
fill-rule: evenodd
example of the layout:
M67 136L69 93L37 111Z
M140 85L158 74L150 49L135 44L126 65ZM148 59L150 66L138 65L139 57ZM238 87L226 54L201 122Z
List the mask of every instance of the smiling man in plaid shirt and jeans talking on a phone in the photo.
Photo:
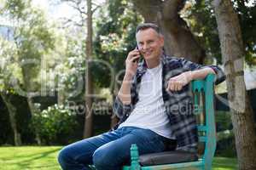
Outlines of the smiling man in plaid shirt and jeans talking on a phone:
M130 161L131 144L139 153L176 148L197 150L197 129L192 114L189 82L216 74L224 81L218 66L196 65L164 54L164 37L158 26L137 26L137 49L125 60L125 77L113 105L119 124L110 132L64 147L59 155L66 170L117 170ZM143 61L137 59L143 55Z

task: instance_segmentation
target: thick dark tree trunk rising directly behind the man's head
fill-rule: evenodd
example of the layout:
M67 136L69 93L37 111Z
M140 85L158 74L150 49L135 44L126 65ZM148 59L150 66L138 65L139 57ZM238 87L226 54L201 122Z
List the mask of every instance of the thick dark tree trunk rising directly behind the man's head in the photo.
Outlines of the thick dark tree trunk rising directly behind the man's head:
M183 57L202 64L205 50L196 42L186 22L178 12L184 0L132 0L145 22L160 26L165 37L166 54Z

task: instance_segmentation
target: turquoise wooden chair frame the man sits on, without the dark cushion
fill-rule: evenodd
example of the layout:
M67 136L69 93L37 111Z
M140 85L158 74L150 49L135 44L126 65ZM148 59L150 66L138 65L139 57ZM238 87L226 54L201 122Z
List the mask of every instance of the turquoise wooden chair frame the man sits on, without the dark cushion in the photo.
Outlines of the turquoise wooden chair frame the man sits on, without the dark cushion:
M142 167L139 164L137 144L131 144L131 166L125 166L123 170L212 169L212 160L216 150L216 127L213 107L214 78L213 74L209 74L204 80L191 82L194 111L198 119L199 141L205 146L201 158L198 161Z

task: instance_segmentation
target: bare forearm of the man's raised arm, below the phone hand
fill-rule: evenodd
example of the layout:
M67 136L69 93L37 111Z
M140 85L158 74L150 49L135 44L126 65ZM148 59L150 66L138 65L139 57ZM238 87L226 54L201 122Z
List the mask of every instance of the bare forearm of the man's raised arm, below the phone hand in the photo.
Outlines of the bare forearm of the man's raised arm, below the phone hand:
M119 89L118 97L124 105L131 104L131 79L131 75L125 74L121 88Z

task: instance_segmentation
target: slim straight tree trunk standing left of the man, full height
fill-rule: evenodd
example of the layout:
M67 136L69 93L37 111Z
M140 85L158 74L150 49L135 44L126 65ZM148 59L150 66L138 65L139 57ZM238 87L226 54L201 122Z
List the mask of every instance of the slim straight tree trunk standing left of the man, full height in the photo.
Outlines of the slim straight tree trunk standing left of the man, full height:
M84 119L84 138L89 138L93 133L93 112L92 107L92 79L90 73L90 59L92 55L92 11L91 0L87 0L87 37L86 37L86 77L85 77L85 106L86 114Z

